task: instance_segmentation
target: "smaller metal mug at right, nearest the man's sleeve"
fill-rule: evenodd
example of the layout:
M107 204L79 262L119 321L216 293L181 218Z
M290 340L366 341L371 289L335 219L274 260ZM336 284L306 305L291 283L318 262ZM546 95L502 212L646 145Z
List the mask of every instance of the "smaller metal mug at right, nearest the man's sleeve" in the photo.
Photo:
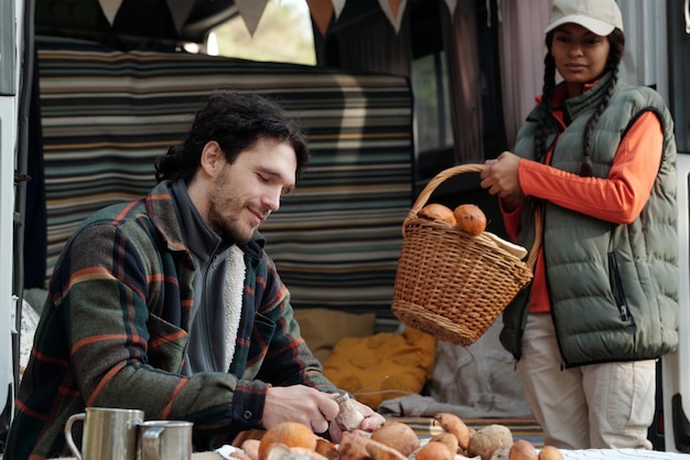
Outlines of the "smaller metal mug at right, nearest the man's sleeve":
M140 460L191 460L193 426L182 420L140 422Z

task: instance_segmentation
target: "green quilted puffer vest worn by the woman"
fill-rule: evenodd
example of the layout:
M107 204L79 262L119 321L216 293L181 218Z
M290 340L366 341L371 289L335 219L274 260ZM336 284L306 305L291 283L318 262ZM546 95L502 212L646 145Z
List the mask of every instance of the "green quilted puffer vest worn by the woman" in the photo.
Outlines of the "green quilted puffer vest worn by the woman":
M567 100L572 122L556 143L551 165L578 174L586 122L610 79ZM618 83L602 114L590 152L595 178L606 178L618 145L637 117L655 113L664 127L664 153L651 195L627 225L543 204L543 252L559 345L568 367L611 361L656 359L678 345L678 235L673 121L650 88ZM515 153L533 160L536 121L528 117ZM556 125L550 136L556 138ZM644 154L644 152L640 152ZM536 200L539 203L538 200ZM526 203L527 204L527 203ZM530 247L533 213L525 205L518 243ZM524 290L504 311L500 340L516 359L527 319Z

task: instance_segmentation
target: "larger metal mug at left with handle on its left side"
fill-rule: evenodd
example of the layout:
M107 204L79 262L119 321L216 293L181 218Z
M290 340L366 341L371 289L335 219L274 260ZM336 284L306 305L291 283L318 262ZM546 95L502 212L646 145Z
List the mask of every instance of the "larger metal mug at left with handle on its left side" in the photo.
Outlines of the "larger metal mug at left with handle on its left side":
M84 421L82 450L74 442L72 427ZM143 411L108 407L87 407L65 424L65 438L78 460L137 460L137 426Z

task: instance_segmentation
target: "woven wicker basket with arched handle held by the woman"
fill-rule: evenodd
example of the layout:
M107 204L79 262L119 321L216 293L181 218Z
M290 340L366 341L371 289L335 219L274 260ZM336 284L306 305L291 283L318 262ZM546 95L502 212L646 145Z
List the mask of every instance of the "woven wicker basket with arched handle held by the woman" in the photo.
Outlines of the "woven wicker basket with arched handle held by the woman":
M420 193L402 224L391 307L403 324L461 345L476 342L532 278L528 264L488 236L417 215L443 181L483 168L450 168Z

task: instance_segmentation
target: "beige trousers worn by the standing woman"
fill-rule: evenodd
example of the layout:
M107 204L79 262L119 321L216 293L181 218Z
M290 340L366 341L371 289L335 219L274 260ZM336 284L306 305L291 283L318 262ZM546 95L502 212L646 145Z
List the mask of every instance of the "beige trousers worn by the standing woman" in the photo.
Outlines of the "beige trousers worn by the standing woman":
M518 362L525 393L545 432L562 449L651 449L656 362L562 368L549 313L530 314Z

